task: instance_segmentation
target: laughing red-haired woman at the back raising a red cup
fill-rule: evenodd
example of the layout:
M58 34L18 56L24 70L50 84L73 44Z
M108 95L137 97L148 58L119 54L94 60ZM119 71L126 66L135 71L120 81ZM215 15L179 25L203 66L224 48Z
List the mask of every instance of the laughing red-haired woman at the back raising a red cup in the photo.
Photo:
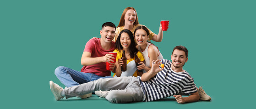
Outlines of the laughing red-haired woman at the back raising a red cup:
M123 14L121 15L119 25L115 30L115 37L113 41L117 40L118 35L122 30L128 29L128 30L131 30L132 33L134 33L134 30L138 26L142 26L142 25L139 24L136 10L133 7L125 8L125 10L123 11ZM154 40L156 42L161 42L162 39L163 39L163 30L162 30L161 24L159 27L158 35L154 34L151 30L149 30L149 39L148 39L149 41Z

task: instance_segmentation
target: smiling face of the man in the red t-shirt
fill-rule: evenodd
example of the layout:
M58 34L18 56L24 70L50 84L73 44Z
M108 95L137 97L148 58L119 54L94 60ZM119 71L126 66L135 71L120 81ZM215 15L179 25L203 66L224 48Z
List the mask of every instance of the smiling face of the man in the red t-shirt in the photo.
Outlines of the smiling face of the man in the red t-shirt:
M115 28L105 26L100 30L101 39L106 43L111 43L115 36Z

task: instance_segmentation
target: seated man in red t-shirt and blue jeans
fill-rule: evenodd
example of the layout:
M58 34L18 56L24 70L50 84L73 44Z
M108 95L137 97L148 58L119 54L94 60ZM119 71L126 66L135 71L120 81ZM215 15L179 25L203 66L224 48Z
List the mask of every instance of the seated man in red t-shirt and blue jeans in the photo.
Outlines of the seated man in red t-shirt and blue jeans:
M66 87L76 86L79 84L94 81L100 78L112 78L111 71L106 69L106 62L115 60L114 51L115 25L106 22L100 30L101 38L93 38L89 40L82 54L81 64L83 65L81 72L67 67L60 66L55 69L55 75ZM112 60L114 59L114 60ZM110 65L110 69L114 69L115 64ZM80 96L87 98L92 94Z

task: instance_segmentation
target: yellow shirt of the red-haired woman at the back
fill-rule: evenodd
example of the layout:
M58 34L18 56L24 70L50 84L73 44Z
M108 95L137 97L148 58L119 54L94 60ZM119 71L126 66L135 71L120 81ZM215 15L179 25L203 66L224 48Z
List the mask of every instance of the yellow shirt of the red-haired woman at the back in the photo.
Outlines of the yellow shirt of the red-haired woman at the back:
M135 30L138 26L142 26L142 25L141 25L141 24L135 25L135 26L133 27L133 29L131 30L131 32L134 33L134 30ZM143 25L143 26L145 26L145 25ZM148 29L148 28L147 28L147 29ZM116 30L115 30L115 36L114 36L114 40L113 40L114 42L116 41L118 35L120 34L120 32L121 32L122 30L125 30L125 27L124 27L124 26L120 26L120 27L116 28ZM149 38L148 38L148 40L150 41L150 40L152 40L152 38L153 38L153 36L154 36L155 34L154 34L151 30L149 30L149 29L148 29L148 31L149 31Z

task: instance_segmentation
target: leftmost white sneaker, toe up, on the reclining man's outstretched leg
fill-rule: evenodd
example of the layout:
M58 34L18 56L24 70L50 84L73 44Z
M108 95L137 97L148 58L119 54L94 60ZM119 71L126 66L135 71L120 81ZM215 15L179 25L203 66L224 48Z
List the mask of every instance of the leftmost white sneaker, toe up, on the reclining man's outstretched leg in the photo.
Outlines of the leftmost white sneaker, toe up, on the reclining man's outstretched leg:
M58 84L55 84L53 81L50 81L50 89L56 100L62 99L64 96L61 96L61 91L63 90Z

